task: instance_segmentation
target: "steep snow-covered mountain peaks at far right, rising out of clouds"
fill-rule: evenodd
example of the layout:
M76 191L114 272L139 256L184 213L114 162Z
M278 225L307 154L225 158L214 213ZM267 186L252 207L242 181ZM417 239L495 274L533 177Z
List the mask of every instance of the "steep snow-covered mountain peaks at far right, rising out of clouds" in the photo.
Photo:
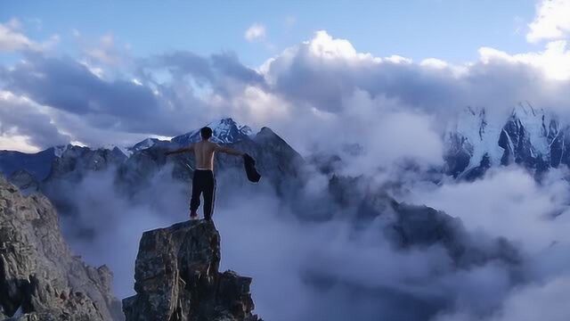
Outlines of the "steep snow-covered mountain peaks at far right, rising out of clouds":
M568 165L567 126L556 115L519 103L508 119L491 118L485 109L467 107L445 132L446 172L478 177L493 166L517 163L541 173Z

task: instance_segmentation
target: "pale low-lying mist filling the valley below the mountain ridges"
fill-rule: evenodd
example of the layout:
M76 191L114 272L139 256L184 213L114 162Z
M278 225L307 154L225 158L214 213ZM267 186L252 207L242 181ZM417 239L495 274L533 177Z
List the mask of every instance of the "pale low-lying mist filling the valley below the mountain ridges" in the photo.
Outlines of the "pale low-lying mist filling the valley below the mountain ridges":
M134 293L142 232L188 219L189 185L171 170L159 171L132 197L117 190L112 169L67 189L75 210L61 218L64 234L87 263L113 270L119 298ZM460 218L473 242L498 236L513 242L523 258L517 280L513 267L497 260L458 268L441 244L397 249L382 233L383 218L354 228L354 216L330 202L322 175L314 174L297 199L284 199L264 180L235 183L235 175L218 175L221 268L253 277L256 313L266 319L532 320L531 301L534 309L542 304L568 316L560 296L570 291L562 169L542 184L509 167L473 183L407 182L399 195ZM307 219L312 212L329 219Z

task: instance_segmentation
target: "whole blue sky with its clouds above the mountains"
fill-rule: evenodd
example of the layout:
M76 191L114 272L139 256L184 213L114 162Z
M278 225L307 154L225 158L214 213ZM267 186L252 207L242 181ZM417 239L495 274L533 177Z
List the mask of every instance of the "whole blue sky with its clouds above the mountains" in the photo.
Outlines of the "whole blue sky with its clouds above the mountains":
M430 119L467 105L567 113L568 16L570 0L4 1L0 149L129 146L232 117L302 151L398 112L433 146Z

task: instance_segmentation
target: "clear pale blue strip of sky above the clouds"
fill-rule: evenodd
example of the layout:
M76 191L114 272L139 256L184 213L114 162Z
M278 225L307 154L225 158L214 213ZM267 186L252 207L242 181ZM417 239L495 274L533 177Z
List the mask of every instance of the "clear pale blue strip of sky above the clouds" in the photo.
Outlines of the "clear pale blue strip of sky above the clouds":
M325 29L350 39L361 52L399 54L414 60L449 62L476 58L481 46L525 52L525 26L535 1L28 1L0 4L0 21L17 18L32 38L61 37L58 48L73 53L72 30L85 37L112 34L130 45L134 56L184 49L209 54L238 53L257 66L282 49ZM262 41L249 43L244 32L265 26Z

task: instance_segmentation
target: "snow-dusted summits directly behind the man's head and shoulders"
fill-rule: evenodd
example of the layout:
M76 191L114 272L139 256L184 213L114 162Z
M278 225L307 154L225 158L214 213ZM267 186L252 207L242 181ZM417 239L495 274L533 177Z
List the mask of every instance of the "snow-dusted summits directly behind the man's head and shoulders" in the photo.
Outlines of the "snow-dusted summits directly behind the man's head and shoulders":
M212 128L213 133L210 140L215 143L232 144L252 134L251 128L247 125L240 126L231 118L213 121L207 126ZM199 129L196 129L181 136L175 136L171 141L176 144L186 145L198 142L199 140Z

